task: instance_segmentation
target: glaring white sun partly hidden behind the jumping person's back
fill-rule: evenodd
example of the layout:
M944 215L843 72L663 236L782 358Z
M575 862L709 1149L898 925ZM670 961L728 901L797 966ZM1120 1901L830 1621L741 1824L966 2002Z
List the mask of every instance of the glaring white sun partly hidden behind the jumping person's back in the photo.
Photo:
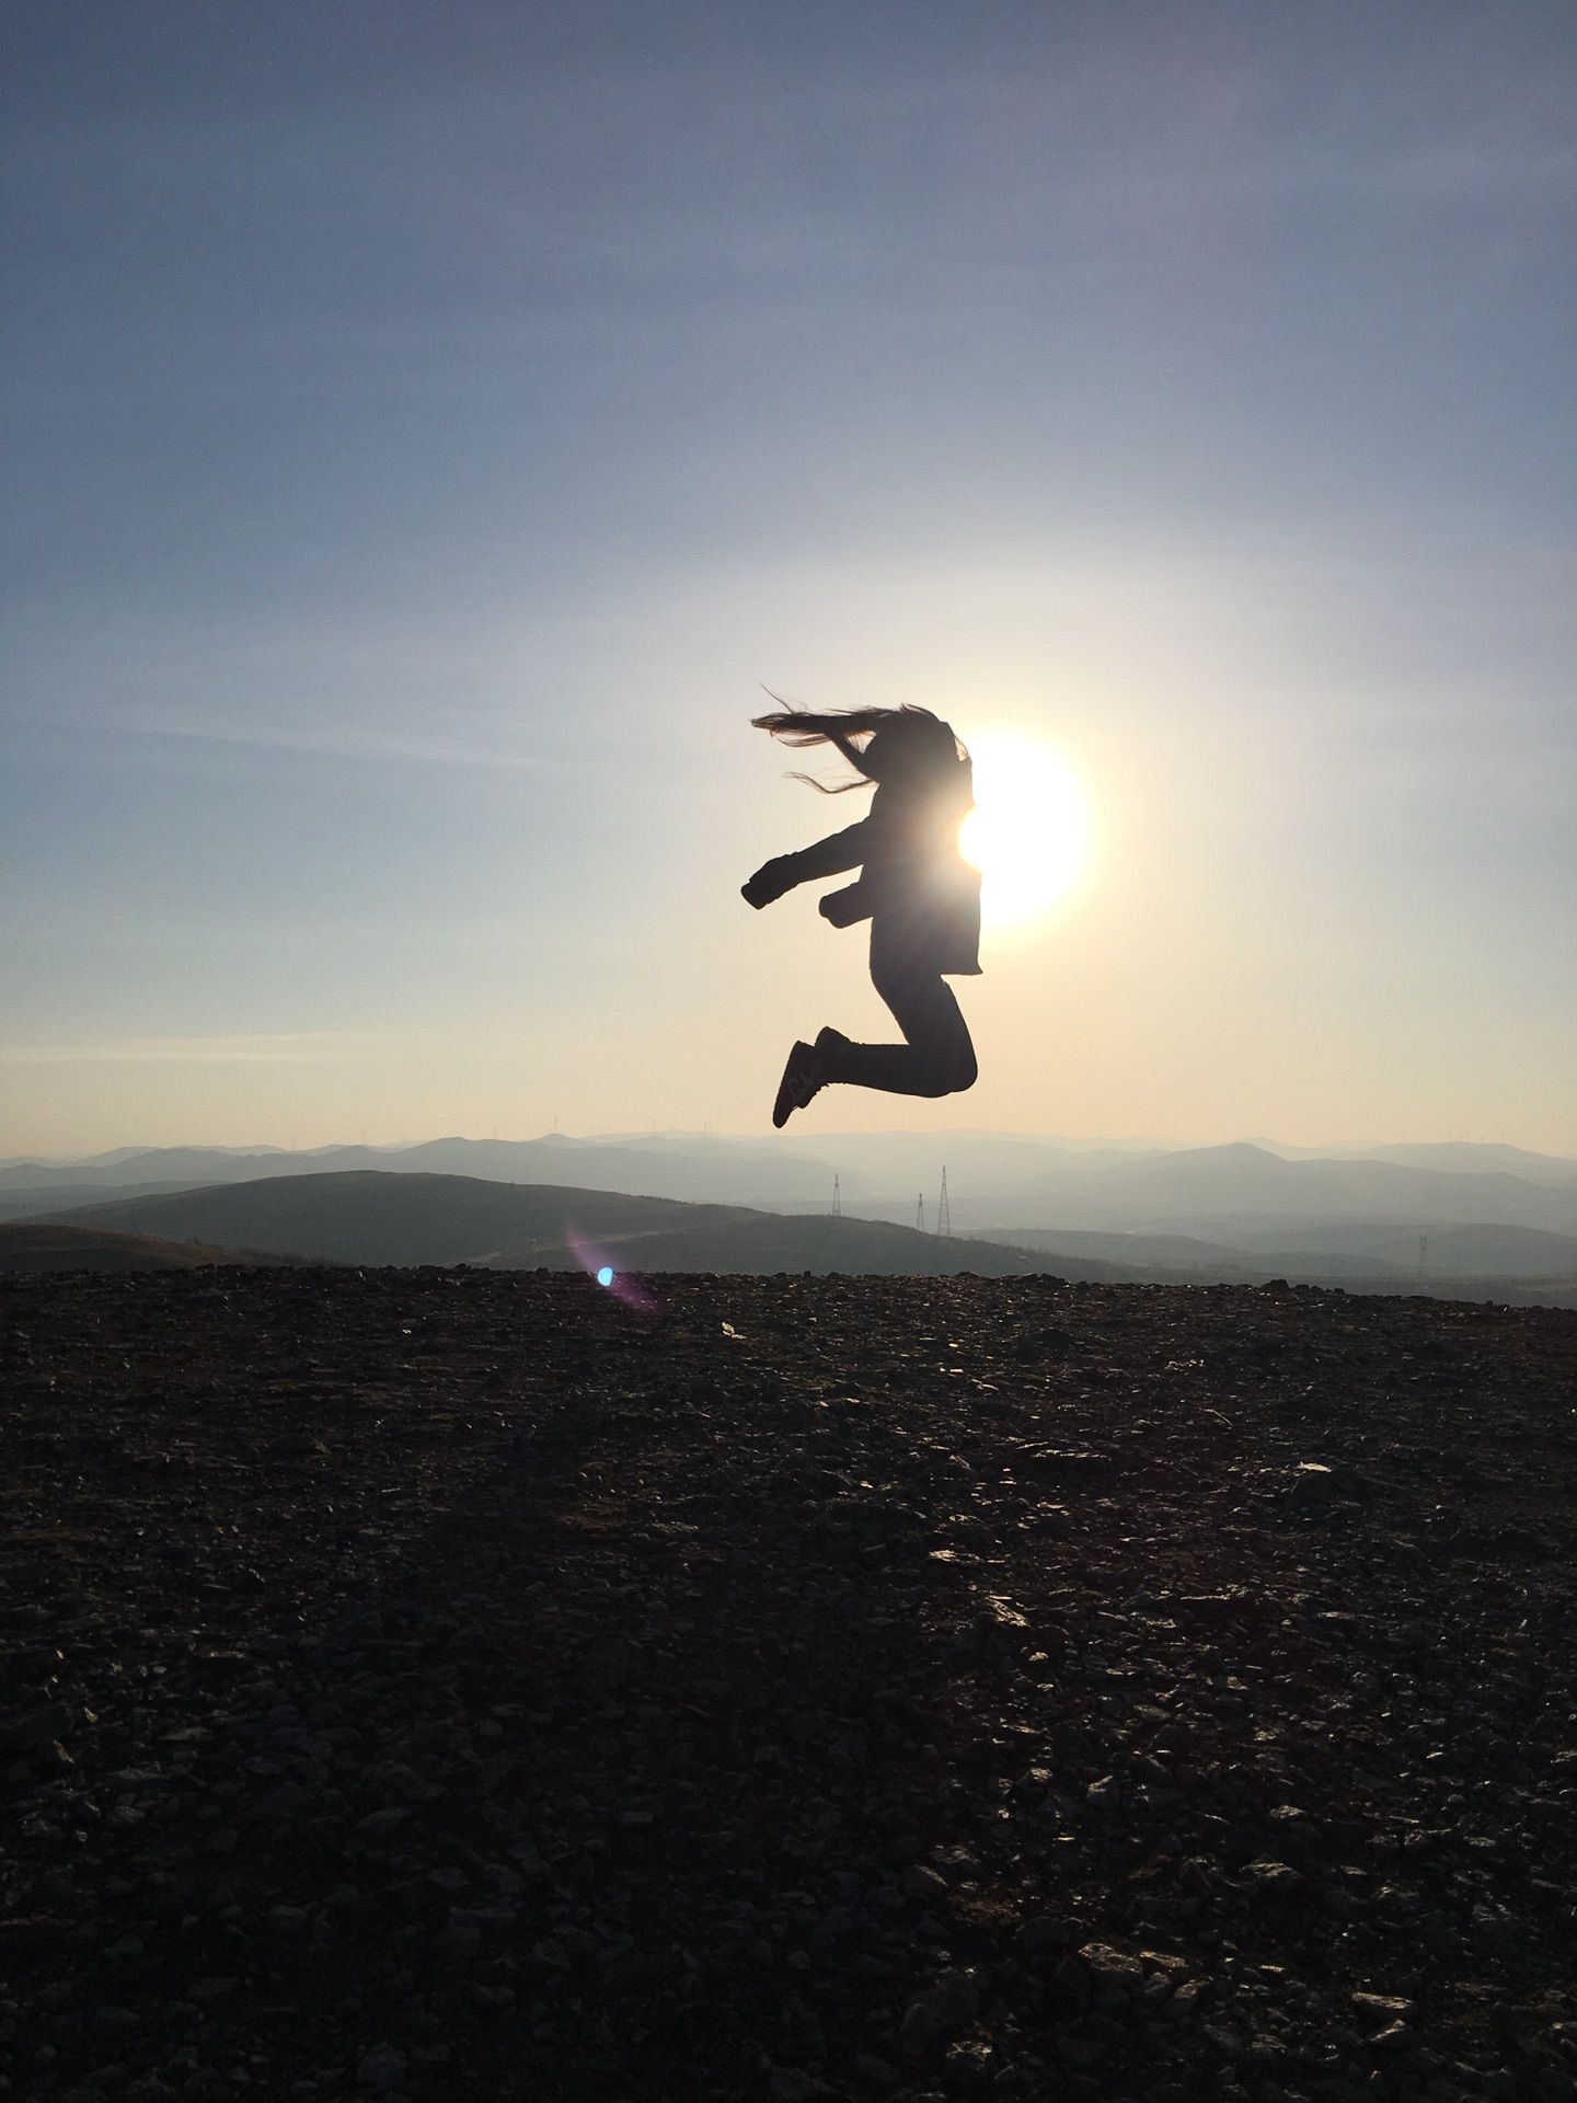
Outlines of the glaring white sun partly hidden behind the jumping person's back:
M1089 797L1074 770L1045 744L1020 736L969 738L976 808L959 848L980 871L980 917L1016 927L1049 913L1089 860Z

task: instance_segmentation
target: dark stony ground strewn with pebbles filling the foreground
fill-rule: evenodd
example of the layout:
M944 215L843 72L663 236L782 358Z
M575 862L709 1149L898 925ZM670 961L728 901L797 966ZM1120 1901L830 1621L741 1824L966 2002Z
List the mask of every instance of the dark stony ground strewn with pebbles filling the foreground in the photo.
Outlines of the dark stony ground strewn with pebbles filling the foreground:
M0 2088L1577 2092L1577 1316L0 1287Z

